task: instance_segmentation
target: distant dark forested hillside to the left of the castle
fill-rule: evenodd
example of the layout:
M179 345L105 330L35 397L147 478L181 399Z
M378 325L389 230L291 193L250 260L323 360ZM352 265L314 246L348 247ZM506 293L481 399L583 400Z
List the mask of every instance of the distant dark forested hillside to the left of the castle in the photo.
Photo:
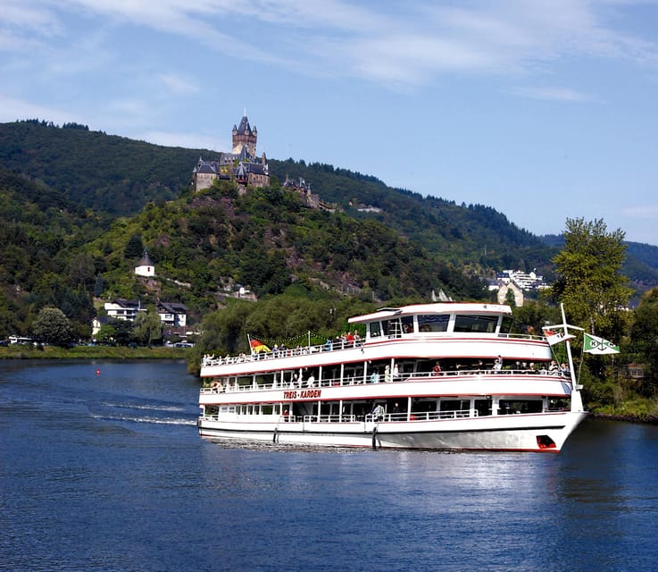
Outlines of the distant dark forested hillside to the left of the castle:
M0 123L0 165L66 192L80 206L136 214L191 180L202 151L160 147L50 122ZM212 156L211 151L203 151Z

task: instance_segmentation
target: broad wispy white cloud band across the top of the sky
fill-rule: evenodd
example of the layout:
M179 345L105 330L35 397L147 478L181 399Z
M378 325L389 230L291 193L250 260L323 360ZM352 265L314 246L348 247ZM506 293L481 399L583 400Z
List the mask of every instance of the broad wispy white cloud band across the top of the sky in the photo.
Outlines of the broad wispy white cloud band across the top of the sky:
M246 61L301 72L320 68L384 83L424 84L455 72L537 72L548 62L574 55L658 62L653 41L607 23L614 15L611 2L415 1L400 6L382 0L363 7L337 0L160 0L155 8L150 0L4 4L10 8L12 27L41 36L61 34L66 12L82 13L119 26L175 34Z

